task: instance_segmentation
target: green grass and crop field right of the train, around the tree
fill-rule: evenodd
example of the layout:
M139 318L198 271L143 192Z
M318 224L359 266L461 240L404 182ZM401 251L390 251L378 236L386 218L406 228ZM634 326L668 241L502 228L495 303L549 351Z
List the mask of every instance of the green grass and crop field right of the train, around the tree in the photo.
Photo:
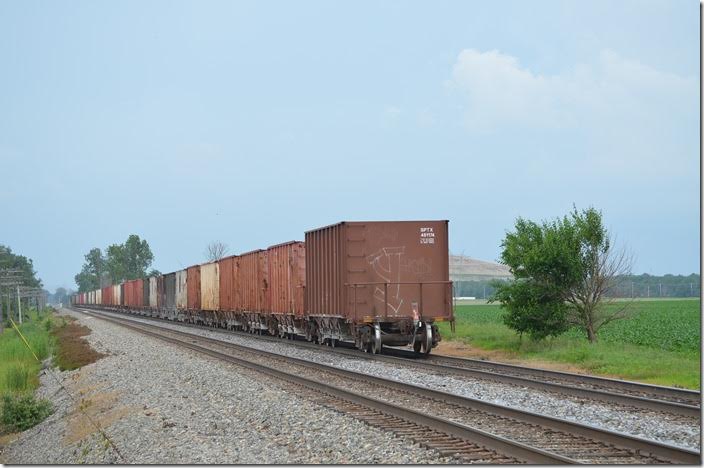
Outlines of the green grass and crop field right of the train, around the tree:
M699 389L699 299L634 301L629 318L605 325L595 344L576 329L539 343L521 340L501 314L496 304L457 306L455 333L440 326L447 341L439 352Z

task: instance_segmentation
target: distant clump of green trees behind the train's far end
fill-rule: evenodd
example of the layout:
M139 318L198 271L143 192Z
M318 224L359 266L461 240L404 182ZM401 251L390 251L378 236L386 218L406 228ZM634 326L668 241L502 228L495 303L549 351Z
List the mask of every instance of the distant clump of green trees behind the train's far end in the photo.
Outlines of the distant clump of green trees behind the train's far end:
M161 274L154 269L147 273L154 254L149 243L136 234L131 234L123 244L109 245L105 251L98 247L90 249L84 258L80 273L74 277L78 292Z

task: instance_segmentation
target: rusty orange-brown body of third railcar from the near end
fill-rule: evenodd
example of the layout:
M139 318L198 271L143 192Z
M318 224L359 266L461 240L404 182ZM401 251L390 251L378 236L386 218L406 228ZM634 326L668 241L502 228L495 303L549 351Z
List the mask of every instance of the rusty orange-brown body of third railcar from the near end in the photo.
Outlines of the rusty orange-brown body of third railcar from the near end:
M267 312L269 293L267 282L266 250L255 250L237 257L236 310Z

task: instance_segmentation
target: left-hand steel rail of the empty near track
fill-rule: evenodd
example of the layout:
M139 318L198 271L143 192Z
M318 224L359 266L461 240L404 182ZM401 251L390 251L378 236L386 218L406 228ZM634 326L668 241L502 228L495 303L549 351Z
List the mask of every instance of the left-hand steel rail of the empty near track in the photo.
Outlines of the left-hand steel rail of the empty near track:
M370 398L364 395L361 395L356 392L352 392L350 390L342 389L339 387L331 386L325 383L321 382L316 382L314 380L306 379L304 377L300 377L295 374L291 374L288 372L284 372L279 369L274 369L269 366L265 366L263 364L257 364L253 363L251 361L247 361L245 359L241 359L229 354L224 354L203 346L199 346L193 342L187 342L183 340L179 340L177 338L172 338L165 336L161 333L153 332L150 330L147 330L145 328L142 328L141 326L138 325L132 325L126 322L129 322L130 320L126 319L117 319L114 317L106 317L102 314L95 313L93 311L91 312L85 312L83 313L87 315L91 315L93 317L99 318L101 320L105 320L107 322L115 323L117 325L133 329L135 331L138 331L140 333L143 333L145 335L158 338L160 340L172 343L172 344L177 344L179 346L191 349L192 351L196 351L201 354L205 354L208 356L211 356L213 358L216 358L218 360L226 361L232 364L236 364L241 367L245 367L247 369L254 370L256 372L263 373L265 375L274 377L279 380L284 380L290 383L294 383L296 385L300 385L302 387L306 387L308 389L315 390L317 392L323 393L323 394L328 394L331 395L335 398L339 398L341 400L345 400L354 404L358 404L361 406L365 406L367 408L374 409L376 411L379 411L381 413L389 414L395 417L398 417L400 419L403 419L405 421L412 422L414 424L417 424L422 427L427 427L430 428L431 430L437 430L440 432L443 432L445 434L448 434L452 437L456 437L462 440L466 440L467 442L471 444L478 444L481 446L484 446L490 450L496 451L496 452L501 452L505 453L507 455L510 455L512 457L517 457L519 459L523 459L528 463L531 464L578 464L577 461L572 460L567 457L563 457L545 450L537 449L535 447L530 447L525 444L521 444L519 442L515 442L509 439L505 439L500 436L496 436L494 434L490 434L488 432L484 432L479 429L471 428L469 426L463 425L463 424L458 424L455 422L452 422L450 420L444 419L444 418L438 418L435 416L430 416L427 414L422 414L416 411L413 411L408 408L403 408L397 405L393 405L390 403L386 403L381 400L377 400L375 398ZM133 320L131 321L132 323L135 323ZM168 330L164 329L163 327L157 327L154 325L150 324L145 324L145 323L140 323L142 326L147 326L147 327L152 327L152 328L160 328L162 330L165 330L167 332L176 332L176 333L183 333L183 332L178 332L176 330ZM194 334L188 334L190 335L189 338L204 338L200 337L198 335ZM432 447L432 442L428 444Z

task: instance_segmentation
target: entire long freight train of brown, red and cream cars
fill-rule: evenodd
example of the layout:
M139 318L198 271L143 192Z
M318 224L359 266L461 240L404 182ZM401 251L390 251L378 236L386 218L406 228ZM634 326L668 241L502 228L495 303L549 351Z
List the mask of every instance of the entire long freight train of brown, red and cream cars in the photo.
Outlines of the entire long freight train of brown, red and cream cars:
M454 325L448 221L341 222L293 241L76 294L72 303L365 352L430 353Z

